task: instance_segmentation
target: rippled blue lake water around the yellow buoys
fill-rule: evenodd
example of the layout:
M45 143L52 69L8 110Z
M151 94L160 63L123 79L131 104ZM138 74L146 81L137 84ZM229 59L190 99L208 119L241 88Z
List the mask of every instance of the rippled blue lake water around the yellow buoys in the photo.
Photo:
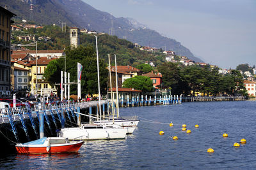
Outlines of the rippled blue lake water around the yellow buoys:
M0 158L0 168L255 169L255 108L255 101L121 108L122 115L138 115L141 120L127 139L86 141L76 154L6 155ZM181 131L182 124L191 134ZM222 137L225 132L228 138ZM242 138L247 143L234 148ZM207 153L207 148L215 152Z

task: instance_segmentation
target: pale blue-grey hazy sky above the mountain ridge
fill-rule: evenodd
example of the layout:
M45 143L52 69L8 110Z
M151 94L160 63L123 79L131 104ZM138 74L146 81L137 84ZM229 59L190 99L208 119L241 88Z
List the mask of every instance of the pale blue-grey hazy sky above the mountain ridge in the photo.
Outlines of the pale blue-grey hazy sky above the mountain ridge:
M134 18L221 68L256 66L256 0L83 0Z

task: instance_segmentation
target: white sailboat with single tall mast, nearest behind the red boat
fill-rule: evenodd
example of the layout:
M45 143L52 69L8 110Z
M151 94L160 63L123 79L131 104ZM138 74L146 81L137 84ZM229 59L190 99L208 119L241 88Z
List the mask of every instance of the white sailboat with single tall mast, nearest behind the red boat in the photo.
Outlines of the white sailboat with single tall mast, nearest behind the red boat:
M100 106L100 80L99 80L99 55L96 38L97 50L97 72L99 86L99 106ZM101 108L99 107L100 121ZM98 114L98 113L97 113ZM83 115L83 114L81 114ZM97 115L98 119L98 115ZM58 136L68 138L69 140L95 140L95 139L125 139L128 130L116 124L81 124L80 127L63 128L58 132Z

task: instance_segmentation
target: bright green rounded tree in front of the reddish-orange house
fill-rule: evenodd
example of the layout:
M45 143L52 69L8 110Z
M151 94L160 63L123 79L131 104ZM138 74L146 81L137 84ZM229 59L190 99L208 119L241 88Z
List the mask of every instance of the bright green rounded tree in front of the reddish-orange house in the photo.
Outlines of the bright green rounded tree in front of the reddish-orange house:
M134 88L143 92L152 92L154 89L152 80L147 76L135 76L127 78L123 83L124 88Z

